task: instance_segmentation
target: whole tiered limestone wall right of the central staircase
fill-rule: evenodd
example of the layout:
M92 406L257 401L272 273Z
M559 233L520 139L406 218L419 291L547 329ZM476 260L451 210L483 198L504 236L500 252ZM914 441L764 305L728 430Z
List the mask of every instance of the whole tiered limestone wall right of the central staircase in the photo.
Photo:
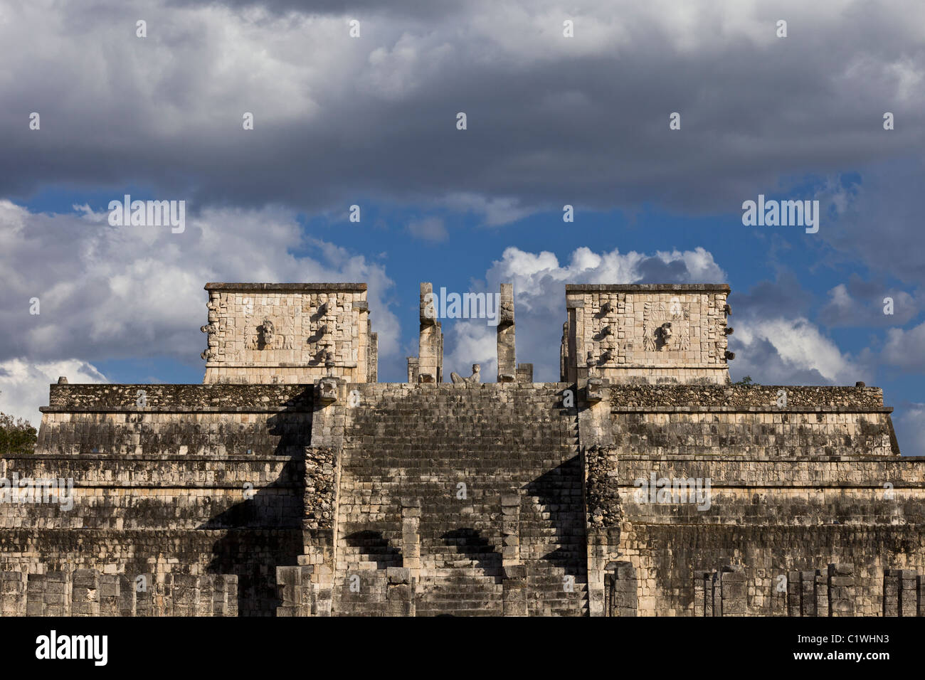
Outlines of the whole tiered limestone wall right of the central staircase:
M786 389L787 409L761 405L774 387L610 389L609 443L584 451L589 534L618 536L640 615L711 615L710 574L736 574L741 613L785 615L787 580L830 583L829 564L853 565L854 611L880 615L891 570L923 571L925 458L899 456L880 391ZM701 405L666 405L681 398Z

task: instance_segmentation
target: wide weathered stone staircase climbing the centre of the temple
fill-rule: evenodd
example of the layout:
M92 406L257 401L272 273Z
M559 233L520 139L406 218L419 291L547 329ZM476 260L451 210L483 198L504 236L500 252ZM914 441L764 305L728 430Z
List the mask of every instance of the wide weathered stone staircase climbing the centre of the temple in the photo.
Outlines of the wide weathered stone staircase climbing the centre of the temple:
M359 386L341 460L334 612L377 611L380 594L364 592L364 579L412 565L401 512L413 500L417 615L500 615L501 498L514 496L527 612L586 614L582 471L565 387Z

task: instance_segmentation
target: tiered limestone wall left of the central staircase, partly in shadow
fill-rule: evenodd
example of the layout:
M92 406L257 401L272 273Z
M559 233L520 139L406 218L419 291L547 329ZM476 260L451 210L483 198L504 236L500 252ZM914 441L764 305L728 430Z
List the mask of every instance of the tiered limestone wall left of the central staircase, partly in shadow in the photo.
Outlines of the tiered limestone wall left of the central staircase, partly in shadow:
M235 576L240 613L273 614L274 570L303 551L313 411L312 385L53 385L37 452L0 479L63 481L70 502L0 502L0 569Z

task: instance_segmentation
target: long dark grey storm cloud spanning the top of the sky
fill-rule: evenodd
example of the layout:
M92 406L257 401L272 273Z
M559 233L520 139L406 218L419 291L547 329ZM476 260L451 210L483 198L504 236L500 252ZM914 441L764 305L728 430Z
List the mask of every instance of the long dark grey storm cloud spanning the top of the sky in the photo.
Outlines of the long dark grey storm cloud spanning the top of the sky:
M19 38L0 48L17 74L3 88L0 195L130 182L194 204L308 211L471 194L728 213L786 191L781 176L923 147L912 3L824 15L784 3L785 39L776 12L741 3L581 4L571 39L555 5L465 5L315 3L294 17L275 15L298 8L285 2L97 5L94 23L68 6L56 22L22 8ZM353 40L346 19L364 8L376 19ZM27 128L32 110L41 132ZM468 130L455 129L459 111ZM672 111L682 130L668 129Z

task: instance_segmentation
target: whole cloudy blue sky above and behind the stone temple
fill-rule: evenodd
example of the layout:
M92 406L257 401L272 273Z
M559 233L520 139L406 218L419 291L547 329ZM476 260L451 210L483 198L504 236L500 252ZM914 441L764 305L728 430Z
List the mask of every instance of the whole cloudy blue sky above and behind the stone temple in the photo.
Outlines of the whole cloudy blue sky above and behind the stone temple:
M734 379L876 384L925 454L925 9L886 5L5 4L0 410L36 419L57 375L201 381L208 280L366 281L382 380L420 281L513 281L539 379L566 282L727 282ZM110 227L125 193L186 230ZM759 193L820 201L819 232L744 226ZM493 329L444 329L447 373L493 361Z

